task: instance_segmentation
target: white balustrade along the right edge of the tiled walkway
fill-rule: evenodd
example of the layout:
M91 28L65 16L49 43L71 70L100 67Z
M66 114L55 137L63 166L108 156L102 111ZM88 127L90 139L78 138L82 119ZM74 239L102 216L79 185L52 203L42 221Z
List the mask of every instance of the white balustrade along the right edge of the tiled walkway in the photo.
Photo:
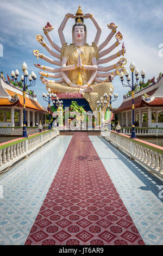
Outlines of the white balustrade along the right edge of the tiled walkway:
M147 170L157 174L158 177L163 178L163 150L159 153L158 148L153 144L153 148L148 148L148 145L141 141L131 140L126 136L119 135L111 131L109 137L105 137L108 141L120 148L126 154L140 162Z

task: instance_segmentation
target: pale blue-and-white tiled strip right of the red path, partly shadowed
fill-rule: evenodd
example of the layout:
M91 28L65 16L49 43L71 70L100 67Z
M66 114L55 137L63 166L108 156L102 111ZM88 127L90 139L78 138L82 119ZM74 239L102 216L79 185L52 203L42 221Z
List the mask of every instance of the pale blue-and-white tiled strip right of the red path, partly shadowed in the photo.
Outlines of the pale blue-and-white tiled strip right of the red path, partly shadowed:
M162 245L163 199L158 196L162 182L103 138L90 139L143 241Z

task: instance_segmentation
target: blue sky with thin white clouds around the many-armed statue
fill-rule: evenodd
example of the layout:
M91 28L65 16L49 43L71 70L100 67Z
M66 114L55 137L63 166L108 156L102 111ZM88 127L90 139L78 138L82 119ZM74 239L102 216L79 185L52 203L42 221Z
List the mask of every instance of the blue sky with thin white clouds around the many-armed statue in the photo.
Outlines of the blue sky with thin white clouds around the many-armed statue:
M159 45L163 44L163 1L162 0L83 0L79 1L84 13L92 13L102 28L99 44L108 36L110 30L108 23L114 22L118 31L123 35L127 49L127 69L133 61L136 68L145 69L146 80L157 77L163 72L163 57L159 57ZM37 100L46 106L42 100L42 93L46 92L45 86L39 80L39 69L33 63L47 65L42 59L37 61L32 50L51 57L45 48L36 41L37 34L43 35L42 27L50 22L54 26L51 32L53 40L60 45L58 28L66 13L75 14L78 2L72 0L0 0L0 44L3 45L3 57L0 57L0 71L10 75L12 70L18 69L21 74L21 65L26 62L28 72L32 70L37 75L36 85L33 87ZM69 19L64 30L65 38L71 43L71 29L73 20ZM90 19L85 20L87 26L87 43L91 44L96 35L96 29ZM47 40L45 39L47 42ZM115 42L112 39L111 45ZM122 44L121 44L122 45ZM118 50L121 49L118 46ZM117 48L114 52L117 52ZM112 53L114 53L112 52ZM118 59L116 59L118 60ZM49 64L50 66L50 64ZM118 107L123 101L123 94L128 88L122 87L119 77L112 82L114 92L119 94L118 100L112 107Z

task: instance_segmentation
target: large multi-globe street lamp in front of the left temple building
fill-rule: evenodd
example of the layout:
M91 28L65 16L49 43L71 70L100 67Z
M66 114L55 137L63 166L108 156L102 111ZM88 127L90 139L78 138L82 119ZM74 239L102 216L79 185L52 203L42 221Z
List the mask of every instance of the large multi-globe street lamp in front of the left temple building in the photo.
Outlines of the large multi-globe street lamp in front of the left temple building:
M32 73L29 75L27 71L27 64L24 62L22 64L22 70L24 75L21 76L21 81L22 81L22 87L23 87L23 103L24 103L24 108L23 108L23 135L22 137L28 137L27 136L27 129L26 129L26 91L28 87L34 86L36 82L37 76L35 73L32 71ZM15 72L12 70L11 72L11 77L12 81L18 82L17 78L20 75L18 70L16 69ZM27 85L27 77L29 75L29 84Z

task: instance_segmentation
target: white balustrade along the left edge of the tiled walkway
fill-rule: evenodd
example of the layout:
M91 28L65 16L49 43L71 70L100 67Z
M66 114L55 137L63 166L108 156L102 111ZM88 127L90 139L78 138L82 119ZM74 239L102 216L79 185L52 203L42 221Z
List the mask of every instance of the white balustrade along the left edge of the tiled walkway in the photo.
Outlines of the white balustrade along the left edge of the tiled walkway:
M17 140L13 142L15 144L12 144L12 145L8 145L9 143L8 142L6 144L6 147L3 144L2 147L4 148L0 149L0 174L2 170L4 170L5 168L8 168L14 162L17 162L23 157L28 157L28 155L32 153L34 150L36 150L39 147L42 147L43 144L45 144L48 141L51 141L51 139L53 139L58 135L59 135L59 129L57 127L54 130L48 130L45 133L41 132L41 133L37 133L37 135L34 135L34 136L28 136L28 138L25 138L21 142L20 140ZM1 147L1 144L0 144L0 147Z

